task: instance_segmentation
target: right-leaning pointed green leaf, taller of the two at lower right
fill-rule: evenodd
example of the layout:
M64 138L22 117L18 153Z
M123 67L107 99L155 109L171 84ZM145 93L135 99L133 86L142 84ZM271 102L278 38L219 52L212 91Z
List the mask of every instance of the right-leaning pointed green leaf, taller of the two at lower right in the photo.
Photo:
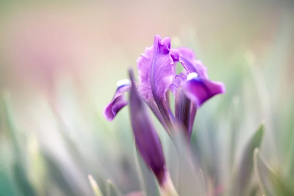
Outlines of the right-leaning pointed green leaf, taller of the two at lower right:
M253 171L253 157L252 154L256 147L260 147L264 133L264 125L261 124L255 134L247 142L242 157L240 166L234 176L231 195L246 195L250 178Z

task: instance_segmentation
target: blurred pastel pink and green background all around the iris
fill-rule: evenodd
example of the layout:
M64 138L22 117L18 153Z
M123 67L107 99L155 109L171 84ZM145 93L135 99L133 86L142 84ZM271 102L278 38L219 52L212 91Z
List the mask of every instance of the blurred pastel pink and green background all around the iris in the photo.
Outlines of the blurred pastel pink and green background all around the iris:
M128 108L113 122L102 115L154 34L193 49L226 85L196 115L192 164L201 166L204 195L229 195L261 123L261 154L281 187L294 185L294 1L1 0L0 196L92 196L88 174L105 196L158 194L135 151ZM154 121L179 189L178 157ZM252 154L242 194L260 196Z

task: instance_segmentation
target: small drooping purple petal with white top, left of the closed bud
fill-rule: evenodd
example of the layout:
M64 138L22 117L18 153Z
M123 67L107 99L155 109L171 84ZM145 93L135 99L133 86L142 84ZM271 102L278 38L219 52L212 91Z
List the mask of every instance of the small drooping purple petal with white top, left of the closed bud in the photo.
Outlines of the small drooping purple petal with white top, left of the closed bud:
M125 99L123 94L130 89L131 85L127 80L118 82L118 88L112 98L112 101L108 103L103 110L104 117L107 121L113 121L117 113L128 104L128 101Z

